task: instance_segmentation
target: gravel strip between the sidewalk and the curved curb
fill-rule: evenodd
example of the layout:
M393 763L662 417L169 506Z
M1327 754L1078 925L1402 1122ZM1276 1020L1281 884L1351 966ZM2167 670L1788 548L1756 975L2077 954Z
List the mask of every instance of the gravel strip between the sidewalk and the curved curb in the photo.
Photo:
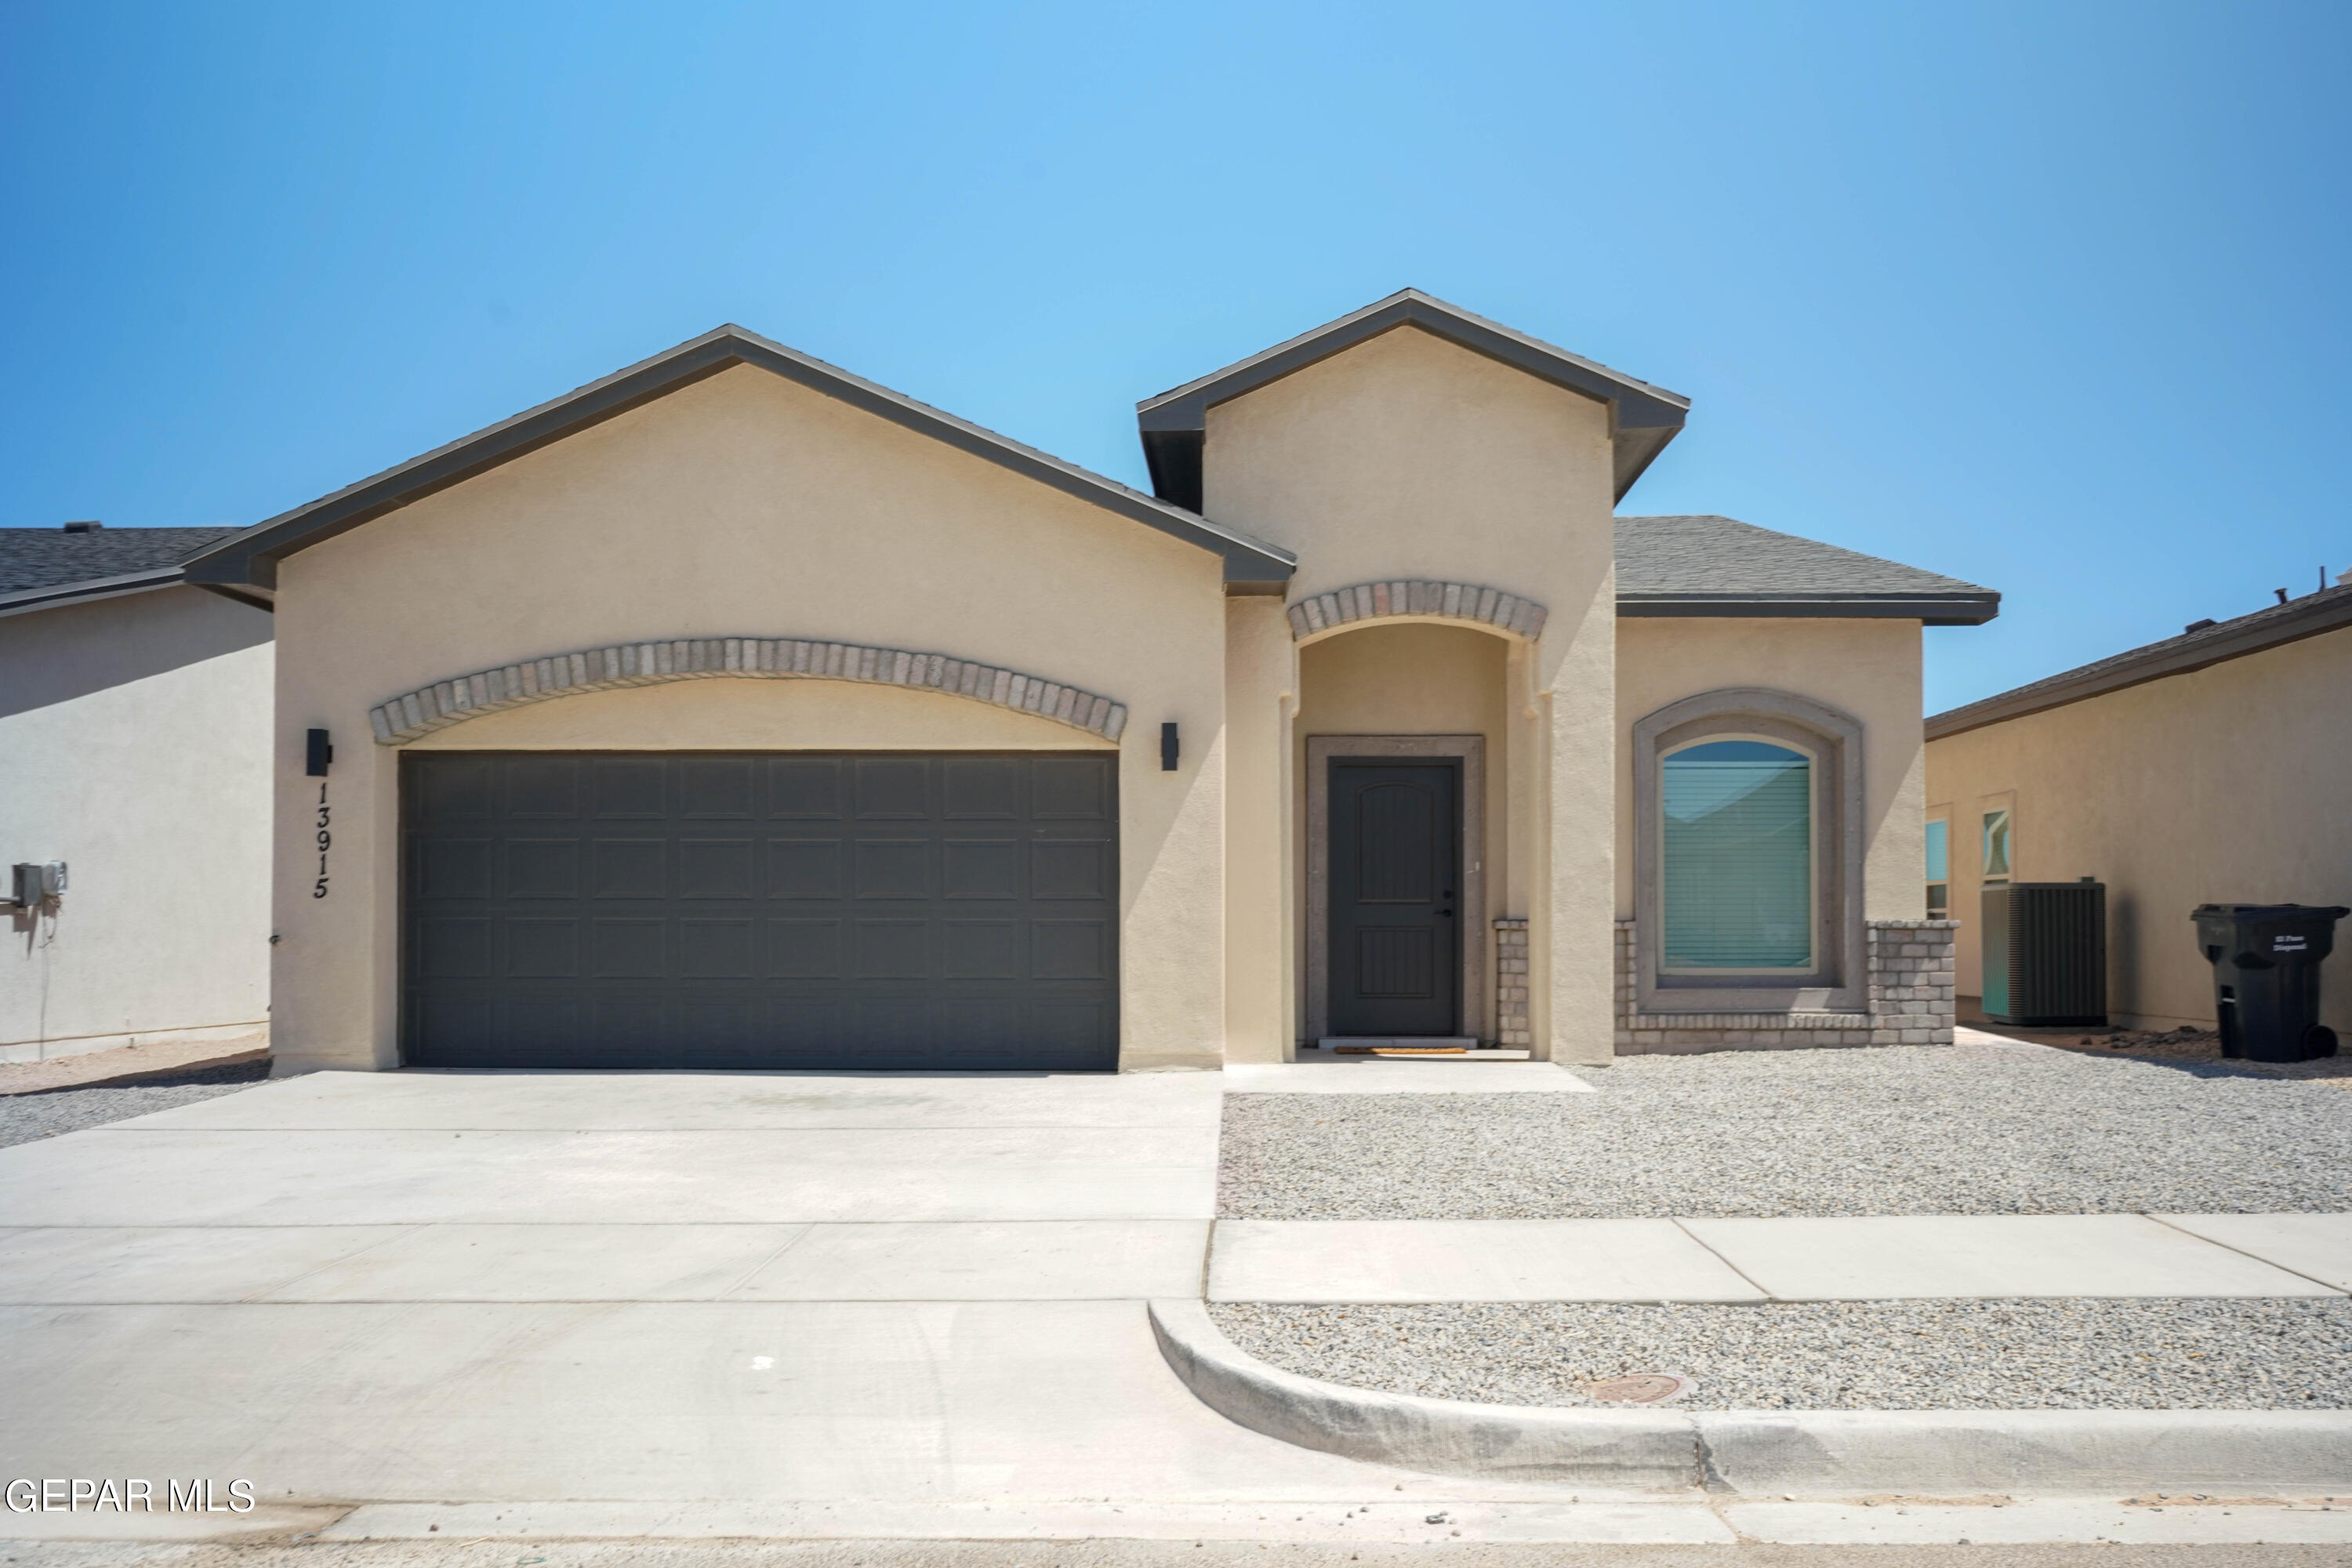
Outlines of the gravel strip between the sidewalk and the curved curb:
M1395 1394L1590 1406L1679 1373L1691 1410L2319 1410L2352 1406L2352 1300L1635 1307L1209 1307L1287 1371ZM1623 1408L1623 1406L1621 1406Z

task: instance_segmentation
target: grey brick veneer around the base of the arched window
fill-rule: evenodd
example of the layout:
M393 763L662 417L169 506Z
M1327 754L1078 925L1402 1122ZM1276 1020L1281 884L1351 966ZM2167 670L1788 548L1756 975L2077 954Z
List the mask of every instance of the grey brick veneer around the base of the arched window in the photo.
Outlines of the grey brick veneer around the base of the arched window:
M1632 922L1616 924L1616 1051L1788 1051L1797 1046L1950 1046L1952 919L1867 922L1860 1013L1642 1013Z

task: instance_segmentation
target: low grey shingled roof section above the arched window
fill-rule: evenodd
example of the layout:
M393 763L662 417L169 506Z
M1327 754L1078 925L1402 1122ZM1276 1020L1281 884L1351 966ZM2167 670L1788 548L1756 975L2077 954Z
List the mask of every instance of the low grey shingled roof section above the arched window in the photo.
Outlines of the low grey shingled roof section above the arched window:
M1983 625L2002 595L1731 517L1618 517L1621 616L1877 616Z

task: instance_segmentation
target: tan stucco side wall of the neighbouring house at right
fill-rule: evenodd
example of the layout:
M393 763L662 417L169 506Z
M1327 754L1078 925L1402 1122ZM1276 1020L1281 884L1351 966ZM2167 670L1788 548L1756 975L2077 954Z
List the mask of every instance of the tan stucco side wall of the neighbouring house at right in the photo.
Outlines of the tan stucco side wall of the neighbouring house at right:
M1931 741L1926 764L1929 811L1952 813L1969 997L1983 994L1980 816L1999 795L2013 795L2018 882L2107 884L2107 1009L2124 1025L2213 1025L2199 903L2352 905L2352 630ZM2347 950L2352 922L2321 969L2340 1034Z

